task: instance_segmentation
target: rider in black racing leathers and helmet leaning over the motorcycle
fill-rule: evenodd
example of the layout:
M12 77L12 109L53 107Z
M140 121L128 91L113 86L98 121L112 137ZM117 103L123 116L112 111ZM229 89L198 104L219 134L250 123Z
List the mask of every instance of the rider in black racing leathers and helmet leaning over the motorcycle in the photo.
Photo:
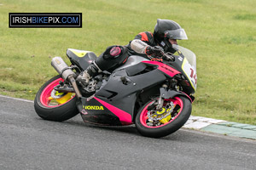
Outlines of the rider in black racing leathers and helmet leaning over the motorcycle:
M144 31L139 33L126 46L108 47L85 71L81 72L77 81L85 87L90 79L96 77L99 72L112 72L123 65L131 55L140 55L152 59L152 56L161 56L163 51L174 54L176 50L172 48L172 45L177 44L177 40L183 39L188 39L188 37L177 22L158 19L153 34Z

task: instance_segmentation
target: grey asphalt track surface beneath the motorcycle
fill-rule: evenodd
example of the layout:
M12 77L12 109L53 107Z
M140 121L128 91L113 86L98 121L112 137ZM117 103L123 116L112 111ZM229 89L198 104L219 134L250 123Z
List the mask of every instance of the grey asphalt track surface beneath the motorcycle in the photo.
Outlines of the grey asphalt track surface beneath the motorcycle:
M256 169L256 141L180 129L162 139L75 116L44 121L33 103L0 96L0 169Z

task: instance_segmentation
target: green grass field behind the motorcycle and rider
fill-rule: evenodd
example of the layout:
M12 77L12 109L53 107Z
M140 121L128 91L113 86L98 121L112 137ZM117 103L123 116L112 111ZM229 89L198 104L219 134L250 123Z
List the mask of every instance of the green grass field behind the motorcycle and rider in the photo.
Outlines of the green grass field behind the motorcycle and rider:
M256 125L256 11L254 0L2 0L0 94L33 99L56 72L54 56L67 48L101 54L125 45L158 18L176 20L197 55L193 115ZM9 13L79 12L83 28L9 28Z

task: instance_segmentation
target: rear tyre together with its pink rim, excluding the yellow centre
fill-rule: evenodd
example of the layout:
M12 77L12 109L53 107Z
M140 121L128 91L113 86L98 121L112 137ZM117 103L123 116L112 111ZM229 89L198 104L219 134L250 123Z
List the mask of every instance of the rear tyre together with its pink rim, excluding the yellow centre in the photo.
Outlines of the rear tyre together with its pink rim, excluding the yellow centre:
M51 78L38 90L38 94L35 97L35 111L38 116L45 120L62 122L79 114L79 110L76 105L77 98L75 96L70 97L67 102L61 105L54 106L49 105L49 101L47 101L47 99L45 100L45 98L49 98L50 92L59 83L59 81L63 81L60 75Z

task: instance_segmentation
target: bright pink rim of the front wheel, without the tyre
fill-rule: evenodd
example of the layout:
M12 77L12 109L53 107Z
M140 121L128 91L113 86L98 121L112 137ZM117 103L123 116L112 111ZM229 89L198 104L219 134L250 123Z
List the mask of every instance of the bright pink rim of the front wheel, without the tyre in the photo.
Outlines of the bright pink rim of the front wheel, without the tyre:
M148 105L146 105L140 115L140 122L143 124L144 127L148 127L148 128L159 128L159 127L164 127L166 126L167 124L173 122L177 116L180 115L180 113L182 112L183 110L183 101L182 99L178 98L178 97L175 97L174 99L165 99L165 101L172 101L174 105L179 105L180 106L180 109L177 113L177 115L175 117L172 118L172 120L170 122L167 122L165 124L161 124L160 126L155 126L155 127L151 127L151 126L148 126L147 124L147 121L148 121L148 105L150 105L152 102L150 102Z

